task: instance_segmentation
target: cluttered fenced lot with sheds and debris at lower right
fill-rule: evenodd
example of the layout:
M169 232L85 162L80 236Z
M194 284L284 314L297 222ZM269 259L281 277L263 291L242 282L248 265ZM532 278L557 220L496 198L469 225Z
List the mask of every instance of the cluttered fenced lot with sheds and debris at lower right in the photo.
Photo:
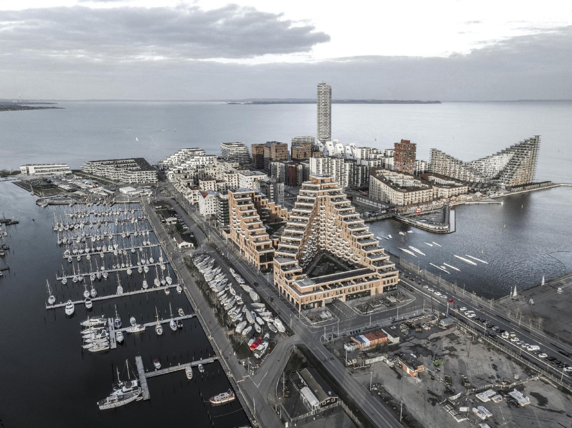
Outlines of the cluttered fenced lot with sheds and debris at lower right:
M451 321L426 315L327 346L404 425L570 426L570 395Z

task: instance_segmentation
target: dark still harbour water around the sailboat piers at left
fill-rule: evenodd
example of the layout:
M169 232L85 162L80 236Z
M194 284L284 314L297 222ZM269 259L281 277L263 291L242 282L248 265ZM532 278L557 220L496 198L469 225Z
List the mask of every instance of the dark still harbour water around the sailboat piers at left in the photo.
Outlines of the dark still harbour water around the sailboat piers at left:
M205 366L204 375L194 369L187 381L184 371L151 378L148 381L149 401L129 403L118 409L100 411L97 401L111 392L115 367L120 371L129 359L135 368L135 357L141 355L144 365L153 370L152 361L160 358L162 366L196 361L212 354L209 341L196 319L184 322L184 328L157 337L154 328L144 333L125 333L124 343L117 349L92 354L81 349L80 321L87 318L83 305L76 305L73 318L66 318L64 309L46 310L46 279L49 279L57 302L68 298L82 299L83 286L55 284L55 273L61 265L63 247L57 246L57 235L51 230L53 207L42 209L35 198L11 182L0 181L0 213L15 215L20 223L7 226L10 251L0 266L10 266L0 277L0 419L8 427L157 427L169 421L177 426L233 428L246 425L247 417L240 403L211 407L204 401L230 387L218 362ZM143 222L146 223L146 222ZM150 241L156 239L150 236ZM158 250L154 258L159 257ZM92 262L99 257L92 257ZM108 268L112 263L106 257ZM133 260L133 262L135 262ZM85 269L86 261L82 261ZM74 265L77 264L74 262ZM153 270L150 271L152 273ZM173 278L173 273L170 274ZM147 277L150 286L152 278ZM135 269L133 276L125 273L121 283L125 291L141 289L142 278ZM110 274L108 281L96 281L98 296L114 294L117 282ZM89 287L89 281L88 281ZM96 302L90 314L114 315L115 305L124 326L129 316L139 322L151 322L155 310L161 318L169 318L169 303L176 311L183 307L186 314L192 307L174 290L165 295L154 291L144 295L120 297Z

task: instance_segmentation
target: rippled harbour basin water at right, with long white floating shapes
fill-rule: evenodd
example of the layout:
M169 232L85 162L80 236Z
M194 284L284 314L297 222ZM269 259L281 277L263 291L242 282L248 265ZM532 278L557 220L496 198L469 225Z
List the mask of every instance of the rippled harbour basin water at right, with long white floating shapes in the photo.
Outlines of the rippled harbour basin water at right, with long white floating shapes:
M498 298L508 295L514 286L527 289L541 283L543 276L548 280L572 270L572 227L567 221L571 199L572 187L556 187L497 199L502 205L460 205L455 208L455 233L444 235L394 220L369 225L375 236L391 235L389 240L382 239L380 245L392 254L440 274L449 282L465 285L467 291L475 291L479 296ZM425 255L415 253L409 246ZM416 257L400 248L413 251ZM454 255L472 260L476 266ZM459 271L445 266L450 272L447 274L430 265L443 266L443 262Z

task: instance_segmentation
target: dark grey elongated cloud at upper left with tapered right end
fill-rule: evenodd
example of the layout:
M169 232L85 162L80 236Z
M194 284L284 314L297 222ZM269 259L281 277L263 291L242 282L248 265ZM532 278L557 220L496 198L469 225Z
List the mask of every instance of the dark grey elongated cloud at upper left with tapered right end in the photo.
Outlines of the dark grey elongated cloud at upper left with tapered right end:
M329 35L310 25L292 26L281 14L252 7L83 6L0 11L0 55L25 50L46 57L252 58L305 52ZM47 59L47 58L46 58Z

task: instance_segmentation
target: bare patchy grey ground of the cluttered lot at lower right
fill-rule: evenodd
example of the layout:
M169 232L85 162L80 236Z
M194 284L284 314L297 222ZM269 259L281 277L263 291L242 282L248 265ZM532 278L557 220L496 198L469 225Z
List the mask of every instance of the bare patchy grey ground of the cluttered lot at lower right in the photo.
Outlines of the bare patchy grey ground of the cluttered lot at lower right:
M375 390L373 393L380 400L396 407L398 415L399 403L403 401L404 414L411 412L420 425L426 428L475 427L482 422L488 423L491 428L572 426L572 402L567 399L565 393L544 381L529 381L517 386L525 397L530 398L530 405L526 407L514 407L507 402L507 398L499 403L483 403L475 394L462 395L454 401L455 409L468 406L471 410L467 414L468 421L456 422L439 402L443 397L450 397L465 390L461 375L468 377L472 387L480 387L500 383L501 378L513 382L515 379L527 379L533 374L527 373L517 363L483 343L471 342L471 335L463 334L454 327L450 330L434 328L432 331L422 332L410 330L399 345L384 347L383 352L386 351L415 354L424 363L424 367L440 371L435 371L435 375L425 371L415 379L399 366L390 367L386 362L380 361L372 363L366 369L351 369L353 375L367 389L370 388L370 382L379 383L380 394ZM438 358L446 359L446 363L435 367L432 361ZM451 378L450 388L440 380L444 380L445 375ZM509 390L505 390L505 393L507 392ZM486 421L476 418L472 413L472 407L476 406L486 407L493 414L492 417Z

